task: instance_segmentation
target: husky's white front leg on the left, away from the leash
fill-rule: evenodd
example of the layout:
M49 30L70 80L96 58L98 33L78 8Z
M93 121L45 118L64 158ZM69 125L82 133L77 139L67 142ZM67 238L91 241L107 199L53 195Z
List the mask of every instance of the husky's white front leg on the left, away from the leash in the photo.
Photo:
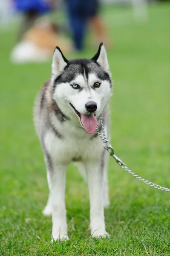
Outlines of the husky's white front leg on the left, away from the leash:
M47 172L47 178L52 206L52 237L55 241L69 239L65 207L66 166L54 165Z

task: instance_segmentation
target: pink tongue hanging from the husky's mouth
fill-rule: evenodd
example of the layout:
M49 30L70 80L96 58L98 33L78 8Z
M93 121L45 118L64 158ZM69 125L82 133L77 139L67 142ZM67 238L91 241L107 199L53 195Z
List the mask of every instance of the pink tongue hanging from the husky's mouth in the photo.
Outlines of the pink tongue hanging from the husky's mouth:
M95 118L95 115L93 114L90 114L90 115L81 114L81 123L84 126L84 129L86 130L86 132L88 132L89 134L94 133L98 125L98 121Z

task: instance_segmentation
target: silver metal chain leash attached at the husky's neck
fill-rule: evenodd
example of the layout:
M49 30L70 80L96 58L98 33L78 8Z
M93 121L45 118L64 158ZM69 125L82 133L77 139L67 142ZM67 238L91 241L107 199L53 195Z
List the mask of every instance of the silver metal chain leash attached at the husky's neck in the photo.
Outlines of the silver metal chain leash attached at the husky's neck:
M151 187L153 187L153 188L155 188L155 189L161 189L162 191L170 192L170 189L165 188L165 187L163 187L163 186L159 186L159 185L157 185L157 184L155 184L155 183L152 183L152 182L150 182L150 181L148 181L148 180L145 180L145 179L143 179L142 177L136 175L134 172L132 172L132 171L127 167L127 165L126 165L125 163L123 163L123 162L121 161L120 158L118 158L118 157L115 155L114 149L113 149L113 147L112 147L110 141L107 140L107 138L106 138L106 134L105 134L105 131L104 131L104 124L103 124L103 120L102 120L101 117L100 117L100 121L101 121L101 129L102 129L103 136L102 136L101 133L99 132L98 126L97 126L97 128L96 128L96 132L97 132L97 134L101 137L101 140L103 140L104 148L109 152L110 156L115 159L116 163L118 163L118 165L119 165L122 169L124 169L125 171L129 172L129 173L130 173L131 175L133 175L136 179L141 180L143 183L145 183L145 184L147 184L147 185L149 185L149 186L151 186Z

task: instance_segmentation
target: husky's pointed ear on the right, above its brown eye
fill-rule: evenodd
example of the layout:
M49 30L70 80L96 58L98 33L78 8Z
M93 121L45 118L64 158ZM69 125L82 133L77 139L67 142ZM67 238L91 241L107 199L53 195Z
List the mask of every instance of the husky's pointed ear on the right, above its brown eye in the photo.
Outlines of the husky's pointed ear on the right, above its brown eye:
M98 51L96 52L95 56L92 58L92 61L96 61L103 68L104 71L109 72L107 52L103 43L99 45Z

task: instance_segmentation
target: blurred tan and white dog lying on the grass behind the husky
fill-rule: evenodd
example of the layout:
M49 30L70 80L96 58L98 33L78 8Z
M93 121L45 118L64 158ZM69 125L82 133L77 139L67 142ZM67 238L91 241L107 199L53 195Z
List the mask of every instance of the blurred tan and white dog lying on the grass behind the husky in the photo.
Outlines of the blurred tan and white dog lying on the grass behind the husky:
M56 45L67 53L73 49L71 41L61 37L57 25L44 18L39 19L14 47L11 60L14 63L47 61L51 58Z

